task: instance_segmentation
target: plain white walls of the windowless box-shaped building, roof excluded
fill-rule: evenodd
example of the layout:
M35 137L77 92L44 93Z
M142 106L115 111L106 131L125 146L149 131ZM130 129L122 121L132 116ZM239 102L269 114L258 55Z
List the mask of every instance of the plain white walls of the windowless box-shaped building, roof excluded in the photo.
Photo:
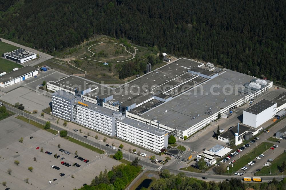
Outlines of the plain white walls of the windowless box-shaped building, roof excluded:
M276 115L276 106L277 104L275 103L273 106L270 106L269 108L263 110L257 115L243 111L242 123L257 128Z

